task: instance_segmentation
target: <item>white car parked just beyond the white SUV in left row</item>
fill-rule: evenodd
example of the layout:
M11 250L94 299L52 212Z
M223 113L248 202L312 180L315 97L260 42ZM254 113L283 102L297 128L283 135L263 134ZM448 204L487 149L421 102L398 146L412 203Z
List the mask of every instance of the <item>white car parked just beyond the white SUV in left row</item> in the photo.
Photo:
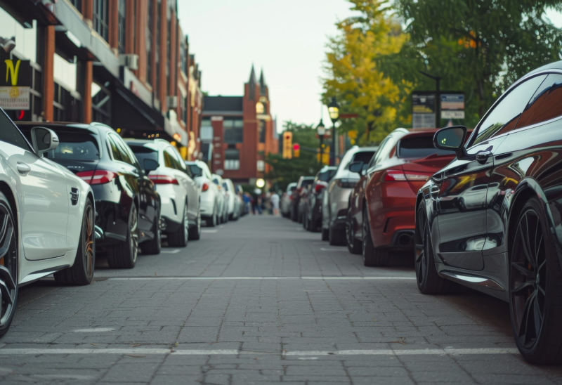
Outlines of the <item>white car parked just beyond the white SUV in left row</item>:
M222 194L213 182L209 166L200 160L185 162L185 165L190 169L193 178L195 178L195 183L200 188L199 210L201 218L205 222L205 226L214 227L220 221Z

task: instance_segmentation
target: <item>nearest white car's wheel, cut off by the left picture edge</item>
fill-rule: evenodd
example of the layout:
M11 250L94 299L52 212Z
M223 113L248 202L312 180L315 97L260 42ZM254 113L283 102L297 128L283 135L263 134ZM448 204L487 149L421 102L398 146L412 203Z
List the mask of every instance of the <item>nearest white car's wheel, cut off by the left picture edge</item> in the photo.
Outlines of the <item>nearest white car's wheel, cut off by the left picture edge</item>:
M10 203L0 193L0 337L8 332L18 301L18 241Z

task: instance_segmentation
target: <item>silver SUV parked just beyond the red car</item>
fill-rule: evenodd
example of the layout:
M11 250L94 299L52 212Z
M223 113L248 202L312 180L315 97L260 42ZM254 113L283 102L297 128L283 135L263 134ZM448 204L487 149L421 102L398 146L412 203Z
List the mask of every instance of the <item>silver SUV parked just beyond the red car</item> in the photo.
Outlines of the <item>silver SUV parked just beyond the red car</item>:
M349 195L359 180L356 173L349 171L349 164L358 161L368 163L375 152L377 147L360 148L354 145L341 158L322 202L322 240L329 241L329 244L346 244Z

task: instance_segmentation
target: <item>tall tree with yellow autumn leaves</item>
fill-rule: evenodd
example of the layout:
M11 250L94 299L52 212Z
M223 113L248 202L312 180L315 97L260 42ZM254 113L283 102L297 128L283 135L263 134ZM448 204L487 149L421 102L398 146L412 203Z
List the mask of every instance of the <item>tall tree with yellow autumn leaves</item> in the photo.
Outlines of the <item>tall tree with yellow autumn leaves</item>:
M358 15L338 22L339 35L329 39L323 98L335 96L341 112L358 116L344 120L340 131L356 130L362 144L379 142L404 117L399 108L412 84L404 78L393 81L383 68L385 59L400 55L408 37L389 16L388 1L348 1Z

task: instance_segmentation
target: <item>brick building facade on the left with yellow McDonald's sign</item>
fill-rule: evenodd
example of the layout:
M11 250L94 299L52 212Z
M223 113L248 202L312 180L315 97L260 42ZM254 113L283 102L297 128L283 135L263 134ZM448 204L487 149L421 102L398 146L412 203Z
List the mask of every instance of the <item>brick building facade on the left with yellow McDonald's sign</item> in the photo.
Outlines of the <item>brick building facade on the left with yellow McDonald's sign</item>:
M197 155L201 72L177 13L177 0L0 0L0 107Z

